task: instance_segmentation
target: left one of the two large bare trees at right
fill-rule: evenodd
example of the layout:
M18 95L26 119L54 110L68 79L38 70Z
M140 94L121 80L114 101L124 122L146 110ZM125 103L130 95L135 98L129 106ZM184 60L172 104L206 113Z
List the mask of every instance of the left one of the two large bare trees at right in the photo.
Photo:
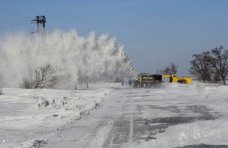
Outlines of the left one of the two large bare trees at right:
M203 82L211 82L210 52L194 54L190 73Z

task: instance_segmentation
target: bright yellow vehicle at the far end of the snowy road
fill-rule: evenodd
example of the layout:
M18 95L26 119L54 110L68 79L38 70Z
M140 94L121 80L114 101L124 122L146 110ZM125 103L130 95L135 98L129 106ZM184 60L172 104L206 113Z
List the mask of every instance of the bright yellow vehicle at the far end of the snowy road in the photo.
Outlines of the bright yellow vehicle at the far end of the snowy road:
M170 83L183 83L183 84L192 84L191 77L178 77L177 75L173 74L162 74L163 81L169 81Z

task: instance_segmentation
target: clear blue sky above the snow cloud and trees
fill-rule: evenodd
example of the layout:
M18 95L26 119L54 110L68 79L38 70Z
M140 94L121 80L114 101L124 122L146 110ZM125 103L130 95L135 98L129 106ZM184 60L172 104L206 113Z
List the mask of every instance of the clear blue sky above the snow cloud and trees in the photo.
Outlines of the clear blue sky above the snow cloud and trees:
M116 37L141 72L174 62L187 75L194 53L228 49L227 0L1 0L0 33L34 31L36 15L47 17L48 32Z

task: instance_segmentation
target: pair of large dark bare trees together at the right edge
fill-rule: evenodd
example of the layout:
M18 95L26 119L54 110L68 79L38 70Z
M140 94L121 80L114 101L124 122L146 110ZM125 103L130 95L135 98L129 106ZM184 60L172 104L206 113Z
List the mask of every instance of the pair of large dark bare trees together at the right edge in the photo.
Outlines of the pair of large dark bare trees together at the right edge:
M190 74L198 80L226 85L228 75L228 50L223 46L193 55Z

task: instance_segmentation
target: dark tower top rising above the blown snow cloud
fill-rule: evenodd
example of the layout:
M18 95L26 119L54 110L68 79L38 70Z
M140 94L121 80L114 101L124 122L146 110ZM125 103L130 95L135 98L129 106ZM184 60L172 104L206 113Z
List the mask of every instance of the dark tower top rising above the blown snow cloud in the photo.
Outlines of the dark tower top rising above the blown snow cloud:
M45 31L45 25L46 25L46 18L45 16L36 16L32 22L35 22L37 25L36 32L40 35L44 35L46 33Z

